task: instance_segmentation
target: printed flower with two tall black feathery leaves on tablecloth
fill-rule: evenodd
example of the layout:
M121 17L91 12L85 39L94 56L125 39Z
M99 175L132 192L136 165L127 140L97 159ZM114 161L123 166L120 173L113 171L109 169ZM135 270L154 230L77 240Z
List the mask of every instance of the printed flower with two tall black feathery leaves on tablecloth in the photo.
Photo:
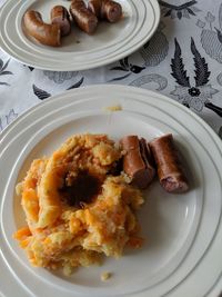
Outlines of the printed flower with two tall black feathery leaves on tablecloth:
M171 95L178 97L181 103L196 112L201 112L203 107L205 107L222 117L222 108L214 106L210 100L219 90L212 88L211 83L209 83L211 75L209 66L198 51L193 38L191 38L191 52L193 55L195 73L193 85L191 83L183 63L181 47L176 39L174 41L175 51L174 57L171 60L171 75L179 86L175 86L175 89Z

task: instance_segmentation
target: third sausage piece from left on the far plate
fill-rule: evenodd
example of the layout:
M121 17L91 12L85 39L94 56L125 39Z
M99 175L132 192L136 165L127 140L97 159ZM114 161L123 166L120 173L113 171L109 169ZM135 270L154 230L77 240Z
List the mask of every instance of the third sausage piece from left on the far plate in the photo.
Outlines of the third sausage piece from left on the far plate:
M87 9L84 1L73 0L70 6L70 13L79 28L88 34L92 34L98 26L98 18Z

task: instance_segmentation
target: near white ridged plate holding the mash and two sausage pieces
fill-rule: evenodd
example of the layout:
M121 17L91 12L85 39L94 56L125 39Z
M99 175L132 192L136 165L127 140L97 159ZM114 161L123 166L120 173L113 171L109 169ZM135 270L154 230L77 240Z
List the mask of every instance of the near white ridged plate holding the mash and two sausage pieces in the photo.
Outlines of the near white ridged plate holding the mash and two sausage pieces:
M105 107L121 105L111 112ZM191 189L170 195L155 181L139 211L144 247L127 250L101 267L80 268L70 278L33 268L11 235L24 225L14 186L33 158L51 154L77 132L105 132L113 139L167 132L180 147ZM222 271L221 140L188 108L162 95L123 86L67 91L30 109L1 135L1 281L6 296L209 296ZM113 277L100 280L102 271ZM218 290L218 289L216 289ZM216 291L218 293L218 291ZM216 295L213 295L216 296Z

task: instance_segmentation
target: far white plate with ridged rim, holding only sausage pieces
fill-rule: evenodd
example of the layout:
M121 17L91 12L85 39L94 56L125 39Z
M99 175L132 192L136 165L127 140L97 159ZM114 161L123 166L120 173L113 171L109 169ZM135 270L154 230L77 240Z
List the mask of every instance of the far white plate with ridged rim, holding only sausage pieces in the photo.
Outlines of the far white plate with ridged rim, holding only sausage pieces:
M0 47L14 59L40 69L69 71L95 68L117 61L142 47L154 33L160 8L157 0L119 0L124 18L117 23L101 22L93 36L74 28L52 48L34 42L22 30L22 17L28 9L42 13L50 22L56 4L69 8L62 0L8 0L0 10Z

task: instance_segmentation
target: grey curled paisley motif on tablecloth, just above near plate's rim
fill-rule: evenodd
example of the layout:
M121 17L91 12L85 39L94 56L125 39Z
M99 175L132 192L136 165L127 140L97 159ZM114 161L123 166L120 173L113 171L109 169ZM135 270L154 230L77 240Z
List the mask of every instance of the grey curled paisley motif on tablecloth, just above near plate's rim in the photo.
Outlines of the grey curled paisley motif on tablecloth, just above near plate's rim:
M134 79L129 83L129 86L134 87L145 87L147 85L154 82L158 83L157 91L162 91L168 87L168 79L163 76L151 73L147 76L142 76L140 78Z

